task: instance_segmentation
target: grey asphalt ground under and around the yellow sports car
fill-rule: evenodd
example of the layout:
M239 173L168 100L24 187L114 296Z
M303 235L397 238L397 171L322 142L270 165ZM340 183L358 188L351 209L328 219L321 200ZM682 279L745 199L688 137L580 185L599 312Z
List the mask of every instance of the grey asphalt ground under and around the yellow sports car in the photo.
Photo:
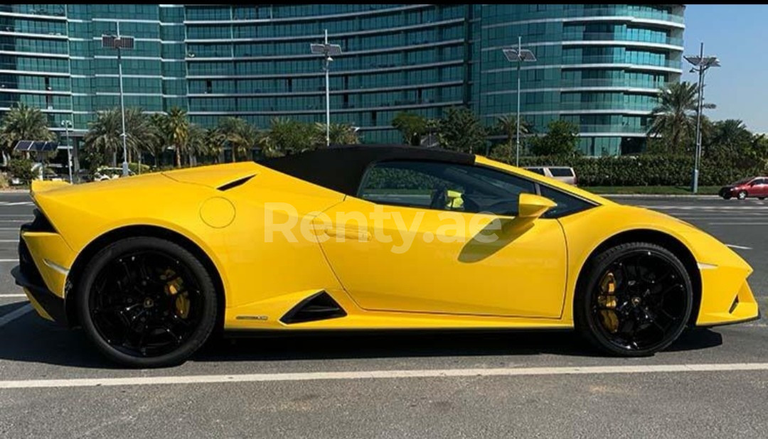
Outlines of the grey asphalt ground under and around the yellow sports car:
M621 201L734 246L768 310L768 202ZM570 332L336 335L114 368L26 312L8 272L30 218L25 195L0 194L0 437L768 437L764 318L684 333L652 358L606 358Z

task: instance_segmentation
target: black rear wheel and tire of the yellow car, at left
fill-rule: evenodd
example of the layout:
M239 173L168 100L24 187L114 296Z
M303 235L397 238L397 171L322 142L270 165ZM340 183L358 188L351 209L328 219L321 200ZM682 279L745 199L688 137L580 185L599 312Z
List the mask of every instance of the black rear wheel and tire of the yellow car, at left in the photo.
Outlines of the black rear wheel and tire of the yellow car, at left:
M142 236L106 246L85 267L77 297L91 342L131 368L183 363L217 324L210 273L192 253L165 239Z

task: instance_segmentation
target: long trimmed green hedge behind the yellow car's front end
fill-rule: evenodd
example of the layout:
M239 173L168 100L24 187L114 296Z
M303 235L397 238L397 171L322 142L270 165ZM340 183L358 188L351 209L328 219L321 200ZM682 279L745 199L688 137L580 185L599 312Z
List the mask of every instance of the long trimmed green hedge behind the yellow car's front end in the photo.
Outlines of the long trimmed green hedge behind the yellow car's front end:
M495 157L507 161L505 157ZM569 166L579 186L685 186L694 172L693 157L520 157L520 166ZM716 163L702 160L701 186L720 186L766 172L766 163Z

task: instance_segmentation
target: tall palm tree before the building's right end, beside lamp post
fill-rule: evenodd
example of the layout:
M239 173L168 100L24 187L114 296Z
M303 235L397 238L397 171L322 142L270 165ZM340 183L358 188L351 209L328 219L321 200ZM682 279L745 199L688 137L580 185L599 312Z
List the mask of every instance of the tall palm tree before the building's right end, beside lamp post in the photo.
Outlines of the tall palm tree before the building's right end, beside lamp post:
M680 152L696 128L697 85L690 82L667 84L659 91L659 105L651 113L649 135L661 136L668 150Z

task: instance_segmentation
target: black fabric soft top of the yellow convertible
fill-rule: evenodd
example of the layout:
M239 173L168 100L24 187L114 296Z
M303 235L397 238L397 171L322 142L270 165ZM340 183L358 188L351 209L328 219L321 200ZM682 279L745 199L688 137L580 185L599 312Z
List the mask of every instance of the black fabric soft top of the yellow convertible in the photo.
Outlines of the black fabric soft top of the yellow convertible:
M260 160L259 164L347 195L356 195L366 169L387 160L429 160L475 164L475 156L439 148L369 144L331 146L285 157Z

